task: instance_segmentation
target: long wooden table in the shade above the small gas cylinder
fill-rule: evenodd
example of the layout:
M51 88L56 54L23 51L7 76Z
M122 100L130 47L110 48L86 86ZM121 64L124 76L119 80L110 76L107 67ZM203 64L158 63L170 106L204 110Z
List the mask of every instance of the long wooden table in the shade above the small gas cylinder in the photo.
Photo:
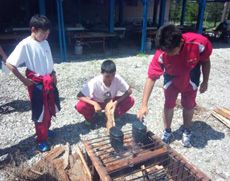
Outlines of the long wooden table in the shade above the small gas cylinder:
M107 38L115 37L115 33L106 32L79 32L73 35L72 39L74 41L80 41L84 43L101 43L103 51L105 51L105 42Z

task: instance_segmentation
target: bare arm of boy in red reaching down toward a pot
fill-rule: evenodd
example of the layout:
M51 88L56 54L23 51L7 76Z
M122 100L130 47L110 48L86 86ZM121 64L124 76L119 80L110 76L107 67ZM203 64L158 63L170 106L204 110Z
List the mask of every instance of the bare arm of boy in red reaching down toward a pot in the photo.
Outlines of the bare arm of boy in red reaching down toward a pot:
M147 78L145 82L141 107L139 111L137 112L137 118L140 120L143 120L144 116L148 114L148 101L152 93L155 82L156 80L150 79L150 78Z

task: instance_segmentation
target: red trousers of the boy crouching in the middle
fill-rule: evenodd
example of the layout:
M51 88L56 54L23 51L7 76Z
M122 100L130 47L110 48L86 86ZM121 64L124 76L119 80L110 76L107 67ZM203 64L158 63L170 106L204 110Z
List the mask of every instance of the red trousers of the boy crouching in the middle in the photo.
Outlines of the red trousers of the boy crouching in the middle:
M116 97L114 100L117 100L119 97ZM98 103L100 104L101 108L105 108L105 103ZM115 110L115 115L122 116L124 115L131 107L134 105L134 99L129 96L126 99L124 99L122 102L120 102ZM94 107L88 103L85 103L83 101L79 101L76 106L76 110L82 114L86 120L92 121L92 118L95 114Z

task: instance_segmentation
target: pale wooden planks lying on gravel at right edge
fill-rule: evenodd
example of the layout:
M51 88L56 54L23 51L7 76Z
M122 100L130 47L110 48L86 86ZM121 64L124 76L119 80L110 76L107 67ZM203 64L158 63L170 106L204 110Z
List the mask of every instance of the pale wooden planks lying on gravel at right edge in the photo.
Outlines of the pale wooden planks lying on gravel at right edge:
M212 111L212 115L230 128L230 109L216 108Z

